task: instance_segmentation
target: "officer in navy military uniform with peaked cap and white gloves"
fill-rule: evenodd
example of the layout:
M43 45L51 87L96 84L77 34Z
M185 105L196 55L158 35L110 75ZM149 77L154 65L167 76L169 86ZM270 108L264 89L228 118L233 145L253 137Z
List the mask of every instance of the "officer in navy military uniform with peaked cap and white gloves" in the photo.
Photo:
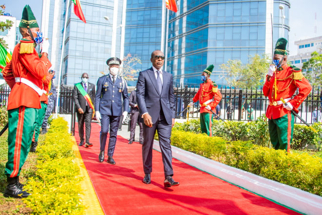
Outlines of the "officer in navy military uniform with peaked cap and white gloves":
M116 136L118 134L121 115L126 118L129 107L129 99L127 86L124 85L122 78L118 75L121 65L119 58L110 58L106 61L109 66L110 73L102 76L97 81L97 91L95 98L96 119L101 122L100 145L101 152L99 161L104 161L105 145L108 130L110 137L108 141L107 163L115 164L113 159L114 149L116 145ZM122 113L122 98L123 109Z

